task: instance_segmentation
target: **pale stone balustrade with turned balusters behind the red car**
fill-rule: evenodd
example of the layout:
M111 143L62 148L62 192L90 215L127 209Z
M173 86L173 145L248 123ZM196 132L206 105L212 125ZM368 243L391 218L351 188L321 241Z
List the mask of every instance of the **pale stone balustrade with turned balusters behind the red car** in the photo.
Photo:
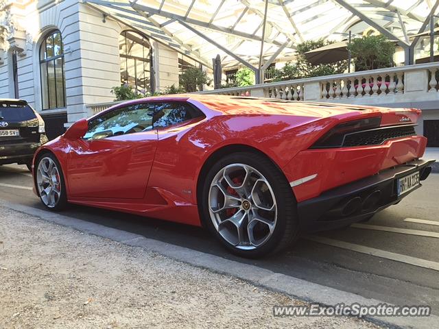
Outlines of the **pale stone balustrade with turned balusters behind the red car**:
M416 103L421 101L439 102L438 90L439 62L434 62L256 86L206 90L199 93L377 106L411 103L416 107ZM105 110L116 103L118 102L89 104L88 115Z

